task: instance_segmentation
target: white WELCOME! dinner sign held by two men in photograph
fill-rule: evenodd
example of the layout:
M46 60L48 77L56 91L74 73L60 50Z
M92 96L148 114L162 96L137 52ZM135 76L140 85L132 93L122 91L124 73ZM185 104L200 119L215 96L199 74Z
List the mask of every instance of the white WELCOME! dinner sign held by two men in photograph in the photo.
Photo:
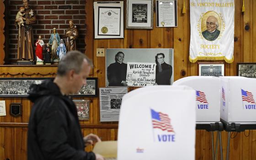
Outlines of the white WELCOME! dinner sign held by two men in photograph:
M128 86L149 86L155 84L155 63L127 63Z

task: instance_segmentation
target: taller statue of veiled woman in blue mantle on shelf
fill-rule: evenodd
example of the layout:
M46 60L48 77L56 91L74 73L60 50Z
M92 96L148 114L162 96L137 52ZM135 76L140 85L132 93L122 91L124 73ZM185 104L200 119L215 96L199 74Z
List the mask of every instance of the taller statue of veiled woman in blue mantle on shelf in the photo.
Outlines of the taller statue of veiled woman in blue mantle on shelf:
M53 28L53 32L51 34L51 37L49 39L49 44L52 46L52 56L51 61L52 62L59 62L59 58L57 56L57 48L59 46L60 37L59 33L57 32L56 28Z

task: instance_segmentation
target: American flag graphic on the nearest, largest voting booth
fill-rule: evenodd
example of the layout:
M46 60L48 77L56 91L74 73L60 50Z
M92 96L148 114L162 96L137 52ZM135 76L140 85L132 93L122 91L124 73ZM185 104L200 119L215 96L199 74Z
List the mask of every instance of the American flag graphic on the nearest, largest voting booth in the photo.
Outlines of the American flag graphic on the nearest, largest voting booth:
M163 131L174 132L171 126L171 119L167 114L161 112L155 112L151 109L152 125L153 128L159 128Z

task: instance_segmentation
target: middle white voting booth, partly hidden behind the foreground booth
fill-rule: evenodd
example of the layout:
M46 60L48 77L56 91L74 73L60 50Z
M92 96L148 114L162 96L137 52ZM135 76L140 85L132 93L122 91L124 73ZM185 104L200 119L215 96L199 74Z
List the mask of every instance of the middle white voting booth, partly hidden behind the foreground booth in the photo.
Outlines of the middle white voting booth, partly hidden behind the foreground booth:
M187 85L196 90L197 122L220 121L220 80L218 77L190 76L176 80L173 85Z

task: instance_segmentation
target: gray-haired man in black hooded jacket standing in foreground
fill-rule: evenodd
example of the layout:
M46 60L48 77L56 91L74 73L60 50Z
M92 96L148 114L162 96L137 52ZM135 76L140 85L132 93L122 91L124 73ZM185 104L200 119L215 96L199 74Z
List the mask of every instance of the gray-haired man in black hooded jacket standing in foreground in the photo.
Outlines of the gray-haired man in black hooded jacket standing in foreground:
M30 86L34 103L29 118L28 160L104 160L84 147L101 141L95 134L82 137L77 110L70 94L86 84L92 63L83 53L72 51L59 62L57 76Z

